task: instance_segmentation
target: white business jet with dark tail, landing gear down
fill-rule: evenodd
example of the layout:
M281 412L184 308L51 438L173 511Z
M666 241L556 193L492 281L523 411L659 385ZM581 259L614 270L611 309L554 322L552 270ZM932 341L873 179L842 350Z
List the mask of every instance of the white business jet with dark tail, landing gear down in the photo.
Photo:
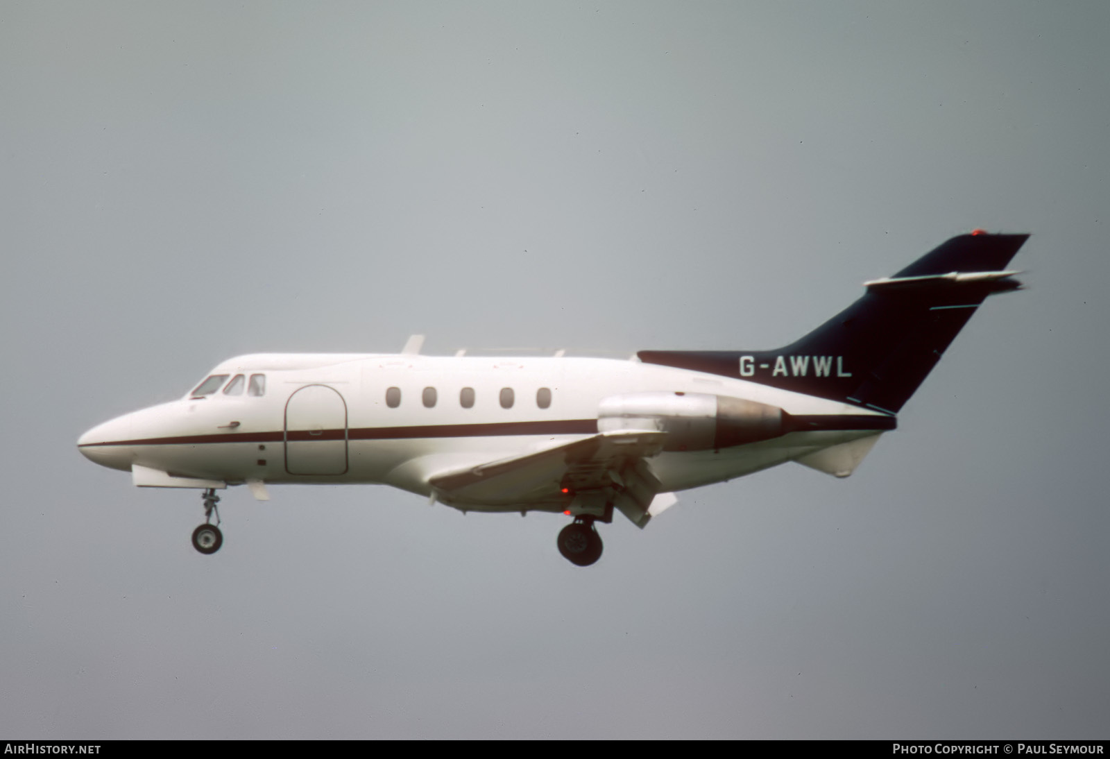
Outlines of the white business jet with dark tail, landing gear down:
M202 490L202 554L223 543L219 489L366 483L564 514L559 553L588 566L614 513L643 528L676 492L787 462L850 475L987 296L1021 287L1006 266L1028 236L953 237L774 351L428 356L416 335L400 354L251 354L78 446L137 486Z

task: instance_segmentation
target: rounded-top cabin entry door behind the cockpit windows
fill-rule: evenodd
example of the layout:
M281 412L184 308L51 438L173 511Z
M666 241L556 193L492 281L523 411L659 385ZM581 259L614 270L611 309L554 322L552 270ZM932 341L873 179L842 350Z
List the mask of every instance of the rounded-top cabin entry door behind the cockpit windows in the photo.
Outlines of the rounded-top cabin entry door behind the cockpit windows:
M285 470L341 475L347 470L346 402L327 385L306 385L285 404Z

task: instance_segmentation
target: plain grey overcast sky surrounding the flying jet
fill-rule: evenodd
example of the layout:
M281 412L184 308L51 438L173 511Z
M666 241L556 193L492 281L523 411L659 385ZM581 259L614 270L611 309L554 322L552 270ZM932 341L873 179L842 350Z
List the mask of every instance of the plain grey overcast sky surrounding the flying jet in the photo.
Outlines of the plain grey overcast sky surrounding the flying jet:
M0 737L1107 738L1110 6L0 4ZM1030 232L847 480L603 527L75 449L223 358L770 348Z

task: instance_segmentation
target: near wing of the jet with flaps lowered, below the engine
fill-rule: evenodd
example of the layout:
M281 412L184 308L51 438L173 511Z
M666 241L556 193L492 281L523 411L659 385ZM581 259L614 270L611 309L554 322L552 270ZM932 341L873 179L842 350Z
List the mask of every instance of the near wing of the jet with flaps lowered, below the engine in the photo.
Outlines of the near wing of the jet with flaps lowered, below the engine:
M457 508L541 508L602 518L616 508L643 527L659 493L659 480L645 459L663 449L664 437L666 433L656 431L601 433L436 475L431 484L441 502ZM673 503L673 497L660 498L657 510Z

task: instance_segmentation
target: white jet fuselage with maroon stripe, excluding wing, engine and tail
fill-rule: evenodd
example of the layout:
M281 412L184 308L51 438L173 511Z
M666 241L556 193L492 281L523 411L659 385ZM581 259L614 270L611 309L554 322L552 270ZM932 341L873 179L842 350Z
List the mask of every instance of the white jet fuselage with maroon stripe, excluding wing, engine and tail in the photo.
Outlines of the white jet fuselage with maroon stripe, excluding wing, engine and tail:
M430 478L442 473L596 435L598 406L615 395L697 393L791 415L872 414L743 380L603 358L253 354L223 362L212 375L226 375L226 386L238 375L241 384L264 375L264 392L191 393L90 429L81 452L104 466L164 473L184 487L374 483L430 495ZM467 396L473 403L464 407ZM648 464L662 490L680 490L875 434L790 432L719 451L663 452ZM147 484L138 474L135 482Z

